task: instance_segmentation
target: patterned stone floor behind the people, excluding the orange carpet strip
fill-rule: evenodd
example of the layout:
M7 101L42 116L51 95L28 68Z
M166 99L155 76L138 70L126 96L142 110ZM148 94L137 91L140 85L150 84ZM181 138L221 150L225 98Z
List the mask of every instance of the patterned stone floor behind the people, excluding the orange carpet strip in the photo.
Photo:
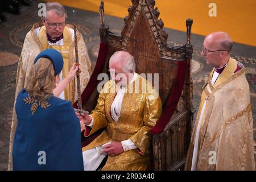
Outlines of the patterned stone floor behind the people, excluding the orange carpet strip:
M0 24L0 170L6 170L8 163L11 115L16 81L16 61L18 61L26 33L30 30L32 23L40 21L37 15L37 5L41 1L35 0L33 2L34 5L32 7L23 6L21 10L22 13L19 16L5 14L8 21ZM67 7L67 12L69 15L67 21L72 22L72 9ZM83 10L76 11L76 19L78 29L85 39L89 56L94 66L97 59L98 45L100 43L100 37L98 36L100 19L97 13ZM106 16L105 22L109 24L111 31L117 32L118 34L121 33L123 19ZM170 29L166 29L166 31L169 35L168 43L176 45L185 43L186 36L184 32ZM204 85L204 80L212 69L212 67L205 63L204 57L200 56L200 48L203 44L203 40L203 36L192 34L192 44L195 49L192 56L193 106L196 109L199 107L202 92L201 88ZM234 44L232 56L241 61L246 67L246 77L250 85L251 105L253 108L254 140L256 141L255 47ZM256 147L255 142L254 147ZM256 155L256 152L254 154Z

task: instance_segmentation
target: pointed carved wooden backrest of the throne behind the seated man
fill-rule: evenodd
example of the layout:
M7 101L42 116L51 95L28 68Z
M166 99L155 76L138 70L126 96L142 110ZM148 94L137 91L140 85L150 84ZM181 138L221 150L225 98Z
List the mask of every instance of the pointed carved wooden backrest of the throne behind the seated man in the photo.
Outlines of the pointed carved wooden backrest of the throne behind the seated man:
M134 0L125 17L121 36L104 34L101 36L109 44L107 67L110 56L125 50L135 58L137 73L159 74L159 95L163 104L168 99L177 73L177 61L186 60L185 48L167 45L168 35L163 31L163 21L158 19L159 10L154 0ZM105 69L107 70L107 69ZM157 79L156 79L157 80ZM154 82L152 82L154 85Z

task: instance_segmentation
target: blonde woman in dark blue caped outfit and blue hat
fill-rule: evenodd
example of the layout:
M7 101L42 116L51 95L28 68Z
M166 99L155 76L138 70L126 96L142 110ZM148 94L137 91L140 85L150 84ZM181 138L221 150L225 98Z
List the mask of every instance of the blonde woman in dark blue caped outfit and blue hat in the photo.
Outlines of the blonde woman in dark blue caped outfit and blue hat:
M74 64L56 87L62 68L63 58L55 49L39 53L27 88L16 98L14 170L84 169L79 119L71 101L55 97L75 77L78 68Z

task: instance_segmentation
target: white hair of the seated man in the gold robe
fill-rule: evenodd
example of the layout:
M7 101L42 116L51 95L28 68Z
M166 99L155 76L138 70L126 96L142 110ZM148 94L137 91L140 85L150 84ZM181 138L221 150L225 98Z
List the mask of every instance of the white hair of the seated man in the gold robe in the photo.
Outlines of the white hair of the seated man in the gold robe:
M126 51L117 51L109 59L109 64L113 61L117 61L123 65L122 71L125 73L130 73L130 71L136 70L136 64L134 57Z

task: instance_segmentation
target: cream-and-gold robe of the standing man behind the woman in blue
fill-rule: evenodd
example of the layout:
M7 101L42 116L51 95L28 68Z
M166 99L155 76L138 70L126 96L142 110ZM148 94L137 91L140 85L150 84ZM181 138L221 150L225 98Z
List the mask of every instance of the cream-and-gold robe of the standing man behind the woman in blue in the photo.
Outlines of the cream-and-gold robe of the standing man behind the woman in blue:
M39 35L36 36L34 30L36 28L40 28ZM26 88L29 72L31 66L34 64L35 57L47 48L54 48L61 53L64 60L63 65L63 78L68 75L69 69L72 67L73 63L75 63L75 44L73 42L73 37L69 27L72 28L71 25L67 24L64 28L64 46L49 46L47 35L46 35L46 27L43 26L42 23L35 23L31 30L27 33L26 38L24 40L22 52L20 53L19 61L18 61L18 69L16 75L16 91L15 91L15 101L18 96L19 91L22 88ZM80 32L77 32L77 48L79 52L79 63L80 63L80 82L81 82L81 92L85 89L85 86L88 84L90 77L90 59L88 55L88 50L84 39ZM74 103L77 100L77 86L76 86L76 78L71 81L70 84L64 90L65 100L70 100ZM15 106L15 103L14 103ZM9 150L9 170L12 169L13 166L13 138L16 131L16 113L13 110L13 119L11 124L11 134L10 134L10 150Z

